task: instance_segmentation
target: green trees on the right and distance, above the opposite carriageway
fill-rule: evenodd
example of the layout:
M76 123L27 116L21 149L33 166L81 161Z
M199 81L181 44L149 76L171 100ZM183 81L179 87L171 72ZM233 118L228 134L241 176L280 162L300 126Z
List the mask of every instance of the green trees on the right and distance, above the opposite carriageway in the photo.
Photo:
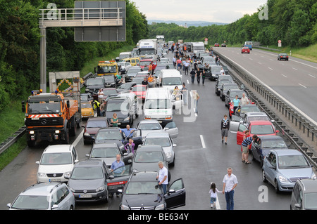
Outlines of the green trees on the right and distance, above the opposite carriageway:
M242 44L259 41L261 45L309 46L317 43L316 0L268 0L252 15L244 15L228 25L179 27L176 24L149 25L149 37L165 35L166 41L204 41L209 44Z

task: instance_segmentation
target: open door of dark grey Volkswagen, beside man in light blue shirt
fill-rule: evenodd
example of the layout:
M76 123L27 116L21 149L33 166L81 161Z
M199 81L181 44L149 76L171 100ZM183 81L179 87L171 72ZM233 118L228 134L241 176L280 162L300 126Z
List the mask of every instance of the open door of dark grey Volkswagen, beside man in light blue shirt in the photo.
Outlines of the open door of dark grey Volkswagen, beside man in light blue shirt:
M114 171L108 173L107 185L108 192L110 194L116 193L119 189L123 189L125 183L128 182L128 179L130 178L130 175L132 173L131 167L131 164L120 166Z

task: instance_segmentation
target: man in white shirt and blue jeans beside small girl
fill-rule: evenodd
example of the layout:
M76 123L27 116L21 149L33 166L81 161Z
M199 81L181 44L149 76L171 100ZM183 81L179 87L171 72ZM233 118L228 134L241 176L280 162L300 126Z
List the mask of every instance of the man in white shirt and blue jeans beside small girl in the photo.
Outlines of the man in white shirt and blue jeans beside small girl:
M223 178L223 194L225 194L225 202L227 202L227 210L233 210L235 187L237 187L237 177L232 174L232 168L228 167L228 174Z

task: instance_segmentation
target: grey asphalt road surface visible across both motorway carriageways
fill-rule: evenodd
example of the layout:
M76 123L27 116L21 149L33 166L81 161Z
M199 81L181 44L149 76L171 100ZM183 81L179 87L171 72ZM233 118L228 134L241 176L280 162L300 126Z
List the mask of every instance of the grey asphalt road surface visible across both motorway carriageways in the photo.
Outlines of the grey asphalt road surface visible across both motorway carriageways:
M302 94L305 95L313 89L316 90L317 81L308 75L316 77L316 65L310 65L309 62L307 63L310 66L307 67L302 67L304 66L302 63L306 62L294 62L292 59L289 62L280 62L278 65L276 56L267 52L253 50L250 55L242 55L239 48L221 48L218 51L226 53L226 55L228 51L230 59L235 60L252 74L259 75L263 82L274 88L275 91L280 91L280 94L292 93L293 96L287 97L288 100L296 100L296 95L299 98ZM171 59L172 54L169 53L168 57ZM272 70L267 67L271 67ZM280 68L278 69L278 67ZM302 72L298 73L296 77L296 70L292 67ZM286 77L283 77L280 72ZM307 73L305 78L303 72ZM302 76L302 79L299 76ZM306 81L306 79L313 81ZM228 114L228 108L215 94L215 82L206 80L204 86L197 84L196 81L191 84L190 77L185 75L183 75L182 81L185 82L189 91L197 90L200 98L198 114L193 113L190 104L189 110L174 116L179 135L175 139L175 144L177 144L175 167L170 168L170 173L172 181L183 178L187 192L186 206L180 209L209 210L210 183L216 183L218 189L222 190L223 176L227 173L228 166L232 167L239 182L235 190L235 209L290 209L290 193L276 194L272 185L262 182L258 163L253 162L247 165L241 162L242 152L236 143L234 133L229 133L228 145L221 143L220 120L224 114ZM287 87L292 88L292 91L289 91ZM311 90L309 90L310 88ZM316 95L311 95L309 105L312 108L316 107L314 101L316 101ZM293 101L293 103L296 102ZM305 113L309 114L309 111L311 109L307 112L305 110ZM135 120L134 126L140 119L143 119L142 115ZM83 144L82 129L77 131L77 136L72 138L71 142L76 145L79 159L86 159L85 154L89 152L91 146ZM34 148L26 147L11 164L0 172L0 190L2 192L0 209L7 209L6 204L13 202L22 190L36 182L37 164L35 162L40 159L44 147L46 145ZM113 197L106 204L76 204L76 209L117 210L119 203L120 197ZM218 194L217 209L225 209L225 196L222 194Z

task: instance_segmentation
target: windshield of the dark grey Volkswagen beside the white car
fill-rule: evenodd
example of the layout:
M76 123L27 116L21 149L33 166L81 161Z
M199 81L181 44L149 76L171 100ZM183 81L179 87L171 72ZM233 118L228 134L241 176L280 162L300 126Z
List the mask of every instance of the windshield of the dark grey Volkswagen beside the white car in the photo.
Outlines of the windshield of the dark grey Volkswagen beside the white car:
M101 167L75 167L70 177L73 180L94 180L104 178Z

